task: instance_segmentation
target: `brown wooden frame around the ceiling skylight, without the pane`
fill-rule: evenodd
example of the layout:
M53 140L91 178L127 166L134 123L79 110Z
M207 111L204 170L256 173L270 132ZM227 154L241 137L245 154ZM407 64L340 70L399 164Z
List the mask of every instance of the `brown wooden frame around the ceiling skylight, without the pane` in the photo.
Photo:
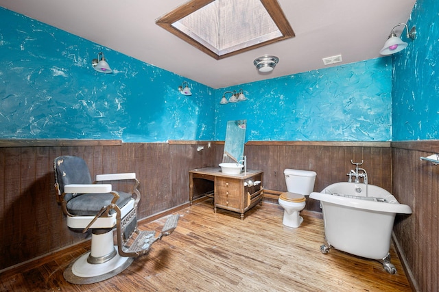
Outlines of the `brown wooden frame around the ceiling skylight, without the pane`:
M263 7L265 10L267 10L268 14L278 27L279 31L281 32L281 36L278 38L273 38L271 40L265 40L264 42L260 42L259 44L251 45L250 47L245 47L243 49L238 49L237 51L232 51L230 53L226 53L224 55L218 55L217 53L211 51L211 49L208 49L204 44L198 42L194 38L191 38L187 34L183 33L179 29L173 26L173 23L176 23L176 21L180 21L180 19L185 18L189 14L199 10L200 8L203 8L205 5L208 5L209 3L212 3L215 0L192 0L189 1L180 7L176 8L175 10L165 14L164 16L161 16L161 18L158 18L156 20L156 24L160 27L163 27L163 29L166 29L171 34L174 34L175 36L178 36L178 38L181 38L185 42L188 42L189 44L193 45L193 47L199 49L200 51L203 51L204 53L210 55L211 57L215 59L224 59L226 57L230 57L232 55L237 55L239 53L243 53L245 51L250 51L252 49L256 49L259 47L263 47L267 44L272 44L274 42L279 42L281 40L285 40L287 38L294 38L296 36L294 34L294 31L289 25L287 18L285 17L285 14L283 13L281 6L278 4L278 1L276 0L259 0L261 1Z

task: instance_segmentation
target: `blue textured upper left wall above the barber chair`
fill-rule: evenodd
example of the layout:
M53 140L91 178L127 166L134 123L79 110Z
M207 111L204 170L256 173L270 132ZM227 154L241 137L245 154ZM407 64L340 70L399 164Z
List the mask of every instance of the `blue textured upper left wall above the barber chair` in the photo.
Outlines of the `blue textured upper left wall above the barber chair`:
M104 51L115 72L93 70ZM214 90L0 8L0 137L212 140Z

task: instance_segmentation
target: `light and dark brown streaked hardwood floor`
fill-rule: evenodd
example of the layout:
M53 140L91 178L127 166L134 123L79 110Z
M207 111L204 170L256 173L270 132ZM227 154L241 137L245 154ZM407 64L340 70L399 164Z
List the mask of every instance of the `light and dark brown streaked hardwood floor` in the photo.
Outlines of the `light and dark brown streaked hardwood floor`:
M178 227L121 274L75 285L65 267L89 250L81 243L0 274L1 291L412 291L394 251L397 274L380 263L337 250L320 253L323 221L302 212L300 228L282 224L283 209L264 202L246 213L219 209L211 199L179 211ZM141 224L161 230L165 218Z

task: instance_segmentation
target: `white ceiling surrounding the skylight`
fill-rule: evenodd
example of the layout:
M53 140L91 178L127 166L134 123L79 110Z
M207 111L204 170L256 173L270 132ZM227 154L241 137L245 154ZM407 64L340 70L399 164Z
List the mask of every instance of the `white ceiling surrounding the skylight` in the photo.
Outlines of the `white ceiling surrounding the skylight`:
M0 0L0 5L175 72L212 88L223 88L325 68L323 57L342 55L338 66L381 57L390 30L406 23L416 0L278 0L296 37L225 59L214 59L156 25L187 0ZM395 29L401 34L403 26ZM406 31L404 31L404 34ZM99 52L97 52L99 53ZM275 55L270 74L253 60ZM117 59L106 55L117 69Z

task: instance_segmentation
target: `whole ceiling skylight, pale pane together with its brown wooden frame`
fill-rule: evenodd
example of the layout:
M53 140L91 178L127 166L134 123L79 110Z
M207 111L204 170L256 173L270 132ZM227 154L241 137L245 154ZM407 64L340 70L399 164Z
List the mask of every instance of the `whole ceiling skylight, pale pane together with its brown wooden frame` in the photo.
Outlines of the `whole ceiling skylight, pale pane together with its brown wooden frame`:
M276 0L193 0L156 23L215 59L295 36Z

